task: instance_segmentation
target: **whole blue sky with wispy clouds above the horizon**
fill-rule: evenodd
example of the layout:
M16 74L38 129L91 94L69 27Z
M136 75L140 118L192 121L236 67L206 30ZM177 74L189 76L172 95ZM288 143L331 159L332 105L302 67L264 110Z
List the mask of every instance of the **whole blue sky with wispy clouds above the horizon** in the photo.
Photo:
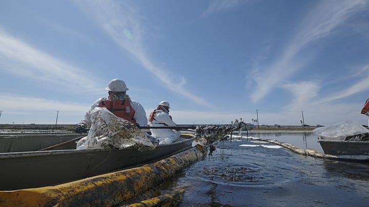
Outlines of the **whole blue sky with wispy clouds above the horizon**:
M177 124L368 123L368 1L0 5L0 124L78 123L114 78Z

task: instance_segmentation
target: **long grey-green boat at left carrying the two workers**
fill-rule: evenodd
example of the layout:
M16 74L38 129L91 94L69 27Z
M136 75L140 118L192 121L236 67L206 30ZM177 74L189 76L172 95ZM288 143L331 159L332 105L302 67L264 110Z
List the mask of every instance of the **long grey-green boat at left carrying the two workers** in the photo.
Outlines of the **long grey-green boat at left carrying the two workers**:
M69 135L2 135L0 137L0 191L55 186L99 174L139 167L192 147L196 135L182 133L179 142L158 145L153 150L92 148L76 150L70 142L52 150L57 143L78 139Z

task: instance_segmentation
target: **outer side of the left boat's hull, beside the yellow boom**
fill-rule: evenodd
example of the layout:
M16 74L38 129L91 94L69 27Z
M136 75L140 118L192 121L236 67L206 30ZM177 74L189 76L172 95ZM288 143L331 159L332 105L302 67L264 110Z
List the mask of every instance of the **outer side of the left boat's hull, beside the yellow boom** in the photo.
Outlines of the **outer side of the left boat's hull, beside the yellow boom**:
M191 148L195 136L182 134L181 137L187 139L143 152L132 148L98 148L0 153L0 190L54 186L138 167Z

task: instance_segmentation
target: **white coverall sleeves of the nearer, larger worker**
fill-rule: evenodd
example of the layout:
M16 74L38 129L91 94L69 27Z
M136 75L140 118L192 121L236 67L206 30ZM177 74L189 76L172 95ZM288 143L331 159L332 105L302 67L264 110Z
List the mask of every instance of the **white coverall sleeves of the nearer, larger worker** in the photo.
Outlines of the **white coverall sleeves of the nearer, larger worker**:
M105 101L105 100L108 100L108 98L100 98L96 100L95 103L91 105L91 108L86 112L85 116L82 118L82 120L78 124L83 124L86 128L89 128L92 124L91 119L90 119L91 111L94 108L96 108L101 101ZM142 107L140 103L136 101L132 101L131 99L129 99L129 102L132 108L135 110L133 119L136 120L136 123L138 123L140 126L147 126L148 120L146 117L146 111L144 107Z

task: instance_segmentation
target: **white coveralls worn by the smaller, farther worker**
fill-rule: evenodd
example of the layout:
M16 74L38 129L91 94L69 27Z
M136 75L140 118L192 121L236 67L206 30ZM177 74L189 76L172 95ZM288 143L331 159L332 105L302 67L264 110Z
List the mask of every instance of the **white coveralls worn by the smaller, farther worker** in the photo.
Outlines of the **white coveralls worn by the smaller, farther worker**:
M176 123L169 117L169 113L163 110L156 110L154 114L154 120L150 123L150 126L176 126ZM170 144L178 140L180 131L172 129L150 129L151 135L159 140L159 144Z

